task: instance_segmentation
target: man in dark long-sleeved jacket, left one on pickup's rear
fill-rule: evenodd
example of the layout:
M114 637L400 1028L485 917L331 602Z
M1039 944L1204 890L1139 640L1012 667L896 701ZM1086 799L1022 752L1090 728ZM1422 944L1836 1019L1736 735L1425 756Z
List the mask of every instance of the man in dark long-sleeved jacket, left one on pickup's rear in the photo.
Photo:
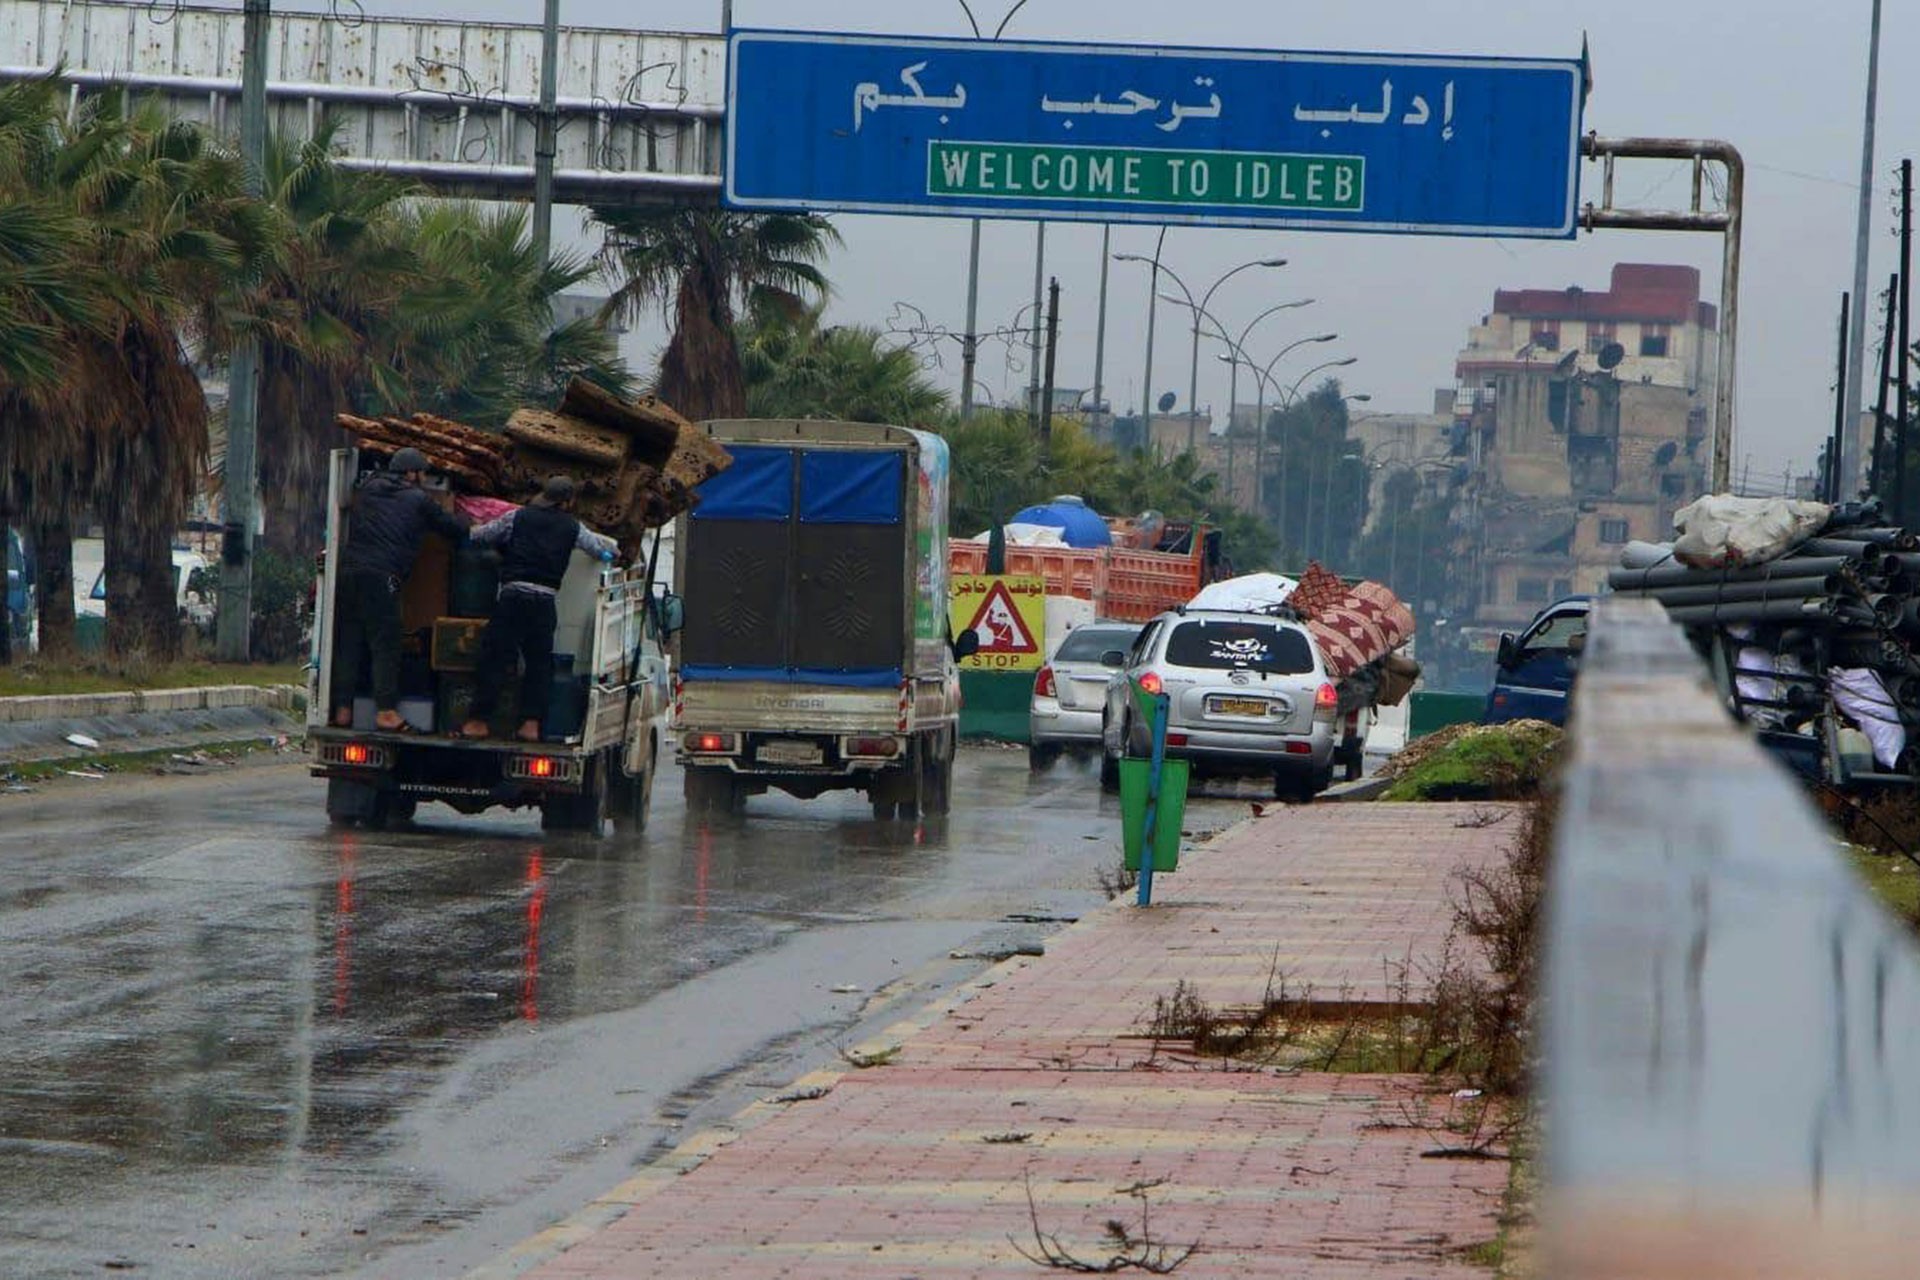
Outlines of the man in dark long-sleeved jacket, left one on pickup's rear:
M348 512L348 545L340 553L340 616L334 622L334 723L353 723L353 693L372 656L374 727L405 733L399 716L399 587L413 572L428 532L453 541L468 520L444 510L420 487L428 461L401 449L386 472L361 482Z

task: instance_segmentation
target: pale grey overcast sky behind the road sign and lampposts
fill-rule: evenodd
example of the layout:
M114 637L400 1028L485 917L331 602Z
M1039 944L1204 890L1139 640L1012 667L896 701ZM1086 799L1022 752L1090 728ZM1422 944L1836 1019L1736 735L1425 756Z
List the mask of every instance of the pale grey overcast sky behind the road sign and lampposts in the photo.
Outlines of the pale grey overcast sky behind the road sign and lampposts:
M973 0L983 27L1010 0ZM305 8L305 6L300 6ZM367 0L369 12L432 17L538 21L538 0ZM718 0L563 0L561 21L718 31ZM737 0L741 27L968 35L956 0ZM1893 169L1920 148L1920 6L1885 6L1880 136L1874 198L1872 290L1897 265ZM1747 226L1741 271L1736 476L1755 480L1805 466L1832 428L1836 315L1851 288L1860 109L1866 84L1868 0L1834 0L1814 19L1788 0L1611 0L1605 6L1515 6L1490 0L1348 0L1292 6L1273 0L1031 0L1008 36L1114 44L1492 54L1572 58L1582 23L1594 59L1586 127L1601 134L1713 136L1747 159ZM1645 161L1644 161L1645 163ZM1582 173L1582 198L1597 194L1597 167ZM1684 165L1626 167L1617 201L1682 207ZM897 301L962 328L966 315L964 221L839 215L847 246L829 265L837 322L885 326ZM1114 230L1114 251L1152 253L1146 226ZM1033 292L1033 225L989 223L983 238L981 328L1004 326ZM1615 261L1690 263L1718 296L1720 240L1709 234L1597 232L1563 240L1461 240L1432 236L1309 234L1175 228L1162 261L1198 294L1223 271L1284 257L1279 271L1248 271L1225 284L1212 311L1238 330L1275 301L1313 297L1311 307L1269 317L1248 340L1265 359L1292 338L1338 332L1340 342L1294 351L1281 370L1304 372L1309 353L1354 355L1340 370L1350 391L1373 395L1371 411L1425 411L1432 390L1452 386L1453 357L1492 305L1496 288L1607 286ZM1048 226L1046 273L1062 284L1056 380L1091 386L1098 297L1098 226ZM1116 407L1139 403L1146 269L1112 273L1106 386ZM1874 324L1878 332L1878 322ZM634 338L645 359L659 330ZM945 345L937 376L958 388L958 349ZM1217 349L1217 347L1215 347ZM1004 347L981 355L979 376L996 395L1020 395L1025 372ZM1190 328L1183 309L1162 305L1154 391L1187 399ZM1290 378L1288 378L1290 380ZM1252 401L1242 378L1240 399ZM1200 405L1225 411L1227 367L1202 349Z

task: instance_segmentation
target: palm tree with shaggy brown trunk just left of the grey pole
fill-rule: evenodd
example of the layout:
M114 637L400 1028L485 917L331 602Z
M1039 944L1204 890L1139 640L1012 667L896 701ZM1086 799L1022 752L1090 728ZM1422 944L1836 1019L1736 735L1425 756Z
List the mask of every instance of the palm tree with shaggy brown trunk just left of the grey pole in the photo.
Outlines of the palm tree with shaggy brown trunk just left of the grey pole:
M171 539L205 480L207 401L190 344L259 257L269 221L238 157L117 90L81 104L36 175L79 230L71 269L98 292L58 395L27 403L36 501L90 503L106 530L108 649L179 652ZM48 551L42 545L42 551ZM54 593L52 576L42 583Z

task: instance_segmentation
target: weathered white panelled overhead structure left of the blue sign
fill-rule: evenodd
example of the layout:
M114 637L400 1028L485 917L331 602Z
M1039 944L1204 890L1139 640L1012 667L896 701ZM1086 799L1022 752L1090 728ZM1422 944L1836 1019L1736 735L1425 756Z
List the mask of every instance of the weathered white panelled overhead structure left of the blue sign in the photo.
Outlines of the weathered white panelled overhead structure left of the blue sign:
M0 0L0 83L61 69L69 102L121 86L215 130L240 119L238 6ZM271 129L305 138L340 121L348 169L442 196L534 190L538 23L467 23L276 10L267 52ZM718 36L563 27L563 203L710 203L726 129Z

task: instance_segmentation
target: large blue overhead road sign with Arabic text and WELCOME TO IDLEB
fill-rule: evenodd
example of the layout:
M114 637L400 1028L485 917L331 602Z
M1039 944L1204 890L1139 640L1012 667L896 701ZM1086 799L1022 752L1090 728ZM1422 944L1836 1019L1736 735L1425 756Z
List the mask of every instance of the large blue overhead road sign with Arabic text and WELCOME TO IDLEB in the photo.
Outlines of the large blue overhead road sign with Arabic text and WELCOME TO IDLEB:
M1578 58L735 31L737 209L1571 238Z

